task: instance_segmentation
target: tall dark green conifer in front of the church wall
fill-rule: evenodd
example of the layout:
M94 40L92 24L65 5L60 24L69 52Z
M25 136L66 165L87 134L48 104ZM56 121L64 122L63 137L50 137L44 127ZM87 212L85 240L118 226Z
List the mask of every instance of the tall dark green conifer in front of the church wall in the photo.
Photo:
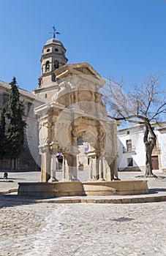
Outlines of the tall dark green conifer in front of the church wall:
M23 152L23 140L24 140L24 128L26 122L23 121L23 102L20 101L20 93L15 77L13 77L10 83L10 102L9 112L7 118L9 119L9 126L7 129L7 157L15 160L20 157Z

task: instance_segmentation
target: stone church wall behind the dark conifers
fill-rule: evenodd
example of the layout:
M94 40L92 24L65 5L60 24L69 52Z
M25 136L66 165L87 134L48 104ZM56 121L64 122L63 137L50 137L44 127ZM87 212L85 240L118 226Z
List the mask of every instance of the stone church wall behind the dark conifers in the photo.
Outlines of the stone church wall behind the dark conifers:
M39 156L39 140L38 140L38 124L37 116L34 114L34 108L41 105L42 101L29 91L19 89L20 99L24 105L23 119L26 121L26 129L24 132L24 151L20 158L16 161L18 170L38 170L40 165ZM7 109L10 99L10 84L0 80L0 110L3 106ZM28 132L31 130L31 132ZM33 155L33 157L32 157ZM0 160L1 170L10 170L14 167L14 163L9 159Z

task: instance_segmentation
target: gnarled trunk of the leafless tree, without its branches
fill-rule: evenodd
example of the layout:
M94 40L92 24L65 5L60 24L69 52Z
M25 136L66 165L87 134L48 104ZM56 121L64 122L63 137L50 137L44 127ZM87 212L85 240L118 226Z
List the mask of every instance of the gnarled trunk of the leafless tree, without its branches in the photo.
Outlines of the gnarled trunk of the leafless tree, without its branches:
M146 177L154 177L154 173L152 172L152 161L151 161L151 154L154 149L154 146L156 145L156 135L154 134L154 131L151 127L151 124L146 124L146 130L144 134L143 141L146 146ZM151 137L148 138L148 132L150 132Z

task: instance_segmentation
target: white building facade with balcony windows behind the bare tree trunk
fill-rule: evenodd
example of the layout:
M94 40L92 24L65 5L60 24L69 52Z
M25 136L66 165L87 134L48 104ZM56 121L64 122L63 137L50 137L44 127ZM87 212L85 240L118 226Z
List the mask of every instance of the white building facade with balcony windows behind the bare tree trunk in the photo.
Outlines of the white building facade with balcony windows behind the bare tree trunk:
M152 125L156 134L156 146L152 152L153 170L166 173L166 122ZM118 170L146 170L144 129L135 125L118 131Z

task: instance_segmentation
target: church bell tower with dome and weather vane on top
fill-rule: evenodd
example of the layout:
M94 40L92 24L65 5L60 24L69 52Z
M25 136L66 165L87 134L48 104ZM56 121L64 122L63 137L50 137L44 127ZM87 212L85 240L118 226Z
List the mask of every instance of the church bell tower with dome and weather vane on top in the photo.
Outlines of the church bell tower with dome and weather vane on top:
M41 66L42 75L38 79L39 87L48 87L56 81L55 70L67 64L64 45L56 39L56 34L60 34L53 26L53 38L49 39L42 48Z

